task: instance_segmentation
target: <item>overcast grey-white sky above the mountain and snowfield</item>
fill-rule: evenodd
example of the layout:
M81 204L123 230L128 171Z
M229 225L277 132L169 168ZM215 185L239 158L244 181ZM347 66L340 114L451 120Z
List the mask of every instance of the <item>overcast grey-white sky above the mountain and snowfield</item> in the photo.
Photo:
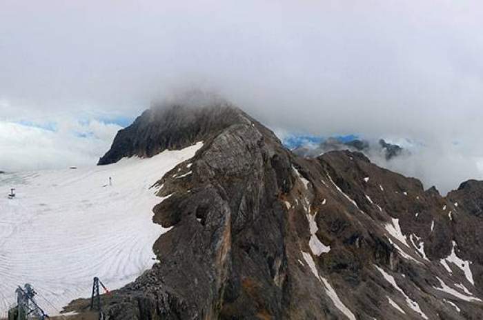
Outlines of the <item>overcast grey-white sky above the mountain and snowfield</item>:
M481 1L0 1L0 170L95 163L179 88L279 134L410 141L395 170L483 178ZM407 140L408 139L408 140Z

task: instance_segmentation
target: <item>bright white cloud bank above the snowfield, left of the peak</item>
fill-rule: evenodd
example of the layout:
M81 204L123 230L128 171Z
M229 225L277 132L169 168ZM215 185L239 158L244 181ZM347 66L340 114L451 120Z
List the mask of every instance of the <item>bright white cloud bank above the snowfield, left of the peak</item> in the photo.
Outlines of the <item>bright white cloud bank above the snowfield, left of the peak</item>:
M121 127L64 120L57 130L0 121L0 171L88 166L108 150Z

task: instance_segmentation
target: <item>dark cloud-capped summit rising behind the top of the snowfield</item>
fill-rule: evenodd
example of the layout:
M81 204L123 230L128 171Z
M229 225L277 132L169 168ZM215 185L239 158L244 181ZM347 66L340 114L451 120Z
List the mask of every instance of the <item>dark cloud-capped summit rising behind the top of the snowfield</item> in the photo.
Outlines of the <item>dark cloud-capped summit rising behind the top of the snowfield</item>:
M114 163L123 157L152 157L166 149L190 146L236 123L252 122L242 110L225 101L207 106L179 103L154 106L119 130L98 164Z

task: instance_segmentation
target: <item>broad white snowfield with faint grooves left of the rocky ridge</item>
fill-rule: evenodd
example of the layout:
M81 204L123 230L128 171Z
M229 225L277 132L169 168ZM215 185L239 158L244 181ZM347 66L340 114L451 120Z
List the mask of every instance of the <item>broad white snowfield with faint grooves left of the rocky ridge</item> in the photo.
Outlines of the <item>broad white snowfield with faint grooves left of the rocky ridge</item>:
M201 146L109 166L0 174L0 319L23 283L55 314L90 297L95 276L112 290L149 269L152 244L167 231L152 223L161 198L150 187Z

